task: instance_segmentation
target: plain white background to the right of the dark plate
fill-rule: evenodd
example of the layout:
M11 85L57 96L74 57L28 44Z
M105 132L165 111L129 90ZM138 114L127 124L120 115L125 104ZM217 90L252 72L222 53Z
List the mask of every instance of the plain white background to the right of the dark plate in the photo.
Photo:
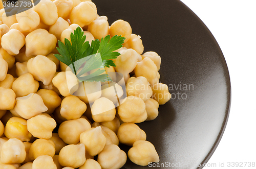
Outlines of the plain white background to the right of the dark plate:
M256 162L256 1L181 0L205 23L219 43L231 80L226 130L208 165ZM223 163L225 167L220 167ZM242 164L242 163L240 163ZM245 165L245 163L243 163Z

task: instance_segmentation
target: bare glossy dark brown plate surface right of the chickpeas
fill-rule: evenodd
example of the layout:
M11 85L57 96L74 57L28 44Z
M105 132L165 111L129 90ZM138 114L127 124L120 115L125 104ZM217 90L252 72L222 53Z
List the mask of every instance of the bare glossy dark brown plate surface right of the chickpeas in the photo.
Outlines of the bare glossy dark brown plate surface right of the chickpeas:
M173 98L159 107L155 120L138 124L164 164L158 168L201 168L218 146L230 106L228 69L214 36L178 0L93 2L110 25L128 21L141 36L144 52L155 51L162 58L160 81ZM123 168L152 167L127 159Z

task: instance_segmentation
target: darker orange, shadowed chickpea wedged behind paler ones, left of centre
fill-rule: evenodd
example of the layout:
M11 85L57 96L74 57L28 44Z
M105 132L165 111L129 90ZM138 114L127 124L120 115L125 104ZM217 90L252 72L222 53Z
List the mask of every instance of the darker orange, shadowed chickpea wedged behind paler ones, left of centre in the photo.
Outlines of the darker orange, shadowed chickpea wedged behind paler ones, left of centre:
M53 90L40 89L36 92L36 94L41 96L44 104L48 108L48 110L44 113L53 113L54 110L61 104L59 95Z

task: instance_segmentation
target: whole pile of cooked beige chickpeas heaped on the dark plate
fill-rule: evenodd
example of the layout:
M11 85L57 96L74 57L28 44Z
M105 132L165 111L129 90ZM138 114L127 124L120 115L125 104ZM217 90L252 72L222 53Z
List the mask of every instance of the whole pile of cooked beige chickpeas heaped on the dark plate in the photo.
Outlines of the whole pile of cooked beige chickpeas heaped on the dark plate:
M128 22L110 26L86 0L41 0L9 17L2 6L0 16L0 168L115 169L127 156L142 166L159 162L136 123L155 119L171 95L159 83L160 56L143 54L142 40ZM106 74L123 75L126 91L115 74L113 82L79 83L55 58L57 41L70 40L77 27L89 43L106 35L126 38L113 59L116 67L105 68ZM131 146L127 155L119 143Z

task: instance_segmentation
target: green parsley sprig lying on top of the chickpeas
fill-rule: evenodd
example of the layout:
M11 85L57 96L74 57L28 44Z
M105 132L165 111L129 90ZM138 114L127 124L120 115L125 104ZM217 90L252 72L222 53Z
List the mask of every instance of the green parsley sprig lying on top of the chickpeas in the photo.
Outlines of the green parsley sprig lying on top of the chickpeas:
M54 56L68 65L80 82L112 81L108 74L102 74L105 70L100 68L116 66L110 59L116 59L120 55L113 51L122 47L125 38L117 35L110 38L108 35L100 41L93 40L90 45L88 41L86 42L86 36L83 35L80 27L71 33L70 38L71 42L65 38L65 44L58 41L57 50L60 55L54 54ZM94 69L97 69L94 73L83 76Z

